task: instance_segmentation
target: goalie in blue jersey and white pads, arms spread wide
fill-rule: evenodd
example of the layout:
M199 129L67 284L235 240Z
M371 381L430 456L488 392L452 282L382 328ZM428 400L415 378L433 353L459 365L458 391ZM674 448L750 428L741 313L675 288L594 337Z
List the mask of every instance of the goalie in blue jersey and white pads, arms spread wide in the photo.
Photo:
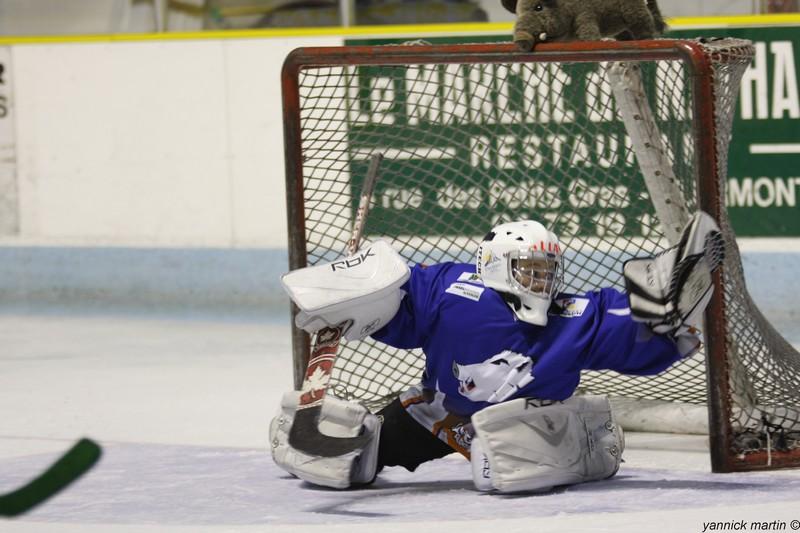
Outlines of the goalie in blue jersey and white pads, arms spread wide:
M409 269L378 241L345 261L347 268L290 272L282 281L301 310L299 327L315 332L348 319L348 341L371 335L421 348L425 371L376 414L329 394L319 431L359 436L342 453L290 443L301 393L285 394L270 425L273 459L335 488L369 484L387 466L413 471L453 452L471 461L483 491L610 478L622 458L622 430L607 398L574 395L581 371L653 375L697 351L723 249L716 223L699 212L676 246L625 263L626 292L565 294L559 239L523 220L493 228L474 264Z

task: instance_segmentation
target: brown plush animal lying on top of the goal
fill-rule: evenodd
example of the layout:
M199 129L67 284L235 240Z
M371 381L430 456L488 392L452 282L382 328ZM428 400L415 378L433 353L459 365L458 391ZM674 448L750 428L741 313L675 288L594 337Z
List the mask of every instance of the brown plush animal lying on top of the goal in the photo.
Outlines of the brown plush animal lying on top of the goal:
M501 1L517 14L514 42L525 51L542 41L651 39L666 29L656 0Z

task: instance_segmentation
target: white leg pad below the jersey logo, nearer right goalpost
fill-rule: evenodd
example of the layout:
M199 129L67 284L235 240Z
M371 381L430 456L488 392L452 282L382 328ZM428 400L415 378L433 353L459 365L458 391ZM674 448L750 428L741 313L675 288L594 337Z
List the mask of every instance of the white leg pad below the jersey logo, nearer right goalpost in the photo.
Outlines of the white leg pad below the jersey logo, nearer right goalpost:
M612 477L625 441L603 396L541 405L518 399L472 415L478 490L541 491Z

